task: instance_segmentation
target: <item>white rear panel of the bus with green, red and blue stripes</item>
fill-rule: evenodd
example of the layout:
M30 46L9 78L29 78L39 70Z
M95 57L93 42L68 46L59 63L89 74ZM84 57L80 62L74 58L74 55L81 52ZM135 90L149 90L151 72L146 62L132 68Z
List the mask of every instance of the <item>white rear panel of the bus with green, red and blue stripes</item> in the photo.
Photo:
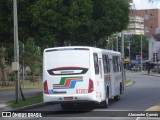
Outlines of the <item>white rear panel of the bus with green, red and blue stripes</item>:
M89 62L89 49L46 50L44 52L43 79L48 84L48 95L45 95L44 98L51 97L52 99L44 99L44 101L57 100L56 96L74 97L78 94L81 96L88 94L89 80L91 79ZM65 101L64 97L62 97L62 101ZM94 100L94 97L92 99Z

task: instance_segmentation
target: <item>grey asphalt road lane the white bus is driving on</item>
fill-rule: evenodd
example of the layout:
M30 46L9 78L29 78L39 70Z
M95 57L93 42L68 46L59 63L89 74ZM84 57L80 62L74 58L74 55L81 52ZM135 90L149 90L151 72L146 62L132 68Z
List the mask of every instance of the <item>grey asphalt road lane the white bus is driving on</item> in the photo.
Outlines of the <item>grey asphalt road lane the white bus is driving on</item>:
M119 101L110 101L108 109L96 108L91 105L85 107L92 111L145 111L160 102L160 78L143 75L140 73L128 73L126 79L133 80L134 83L125 88L125 93L121 95ZM77 108L75 108L77 109ZM80 109L80 106L78 106ZM46 105L39 108L32 108L34 111L59 111L60 105Z

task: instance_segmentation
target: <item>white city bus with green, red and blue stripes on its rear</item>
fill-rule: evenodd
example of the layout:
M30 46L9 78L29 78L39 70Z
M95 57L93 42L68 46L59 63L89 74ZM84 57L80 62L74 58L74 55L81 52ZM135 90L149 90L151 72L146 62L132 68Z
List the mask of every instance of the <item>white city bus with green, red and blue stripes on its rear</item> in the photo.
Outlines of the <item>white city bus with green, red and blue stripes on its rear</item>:
M47 48L43 53L43 100L63 109L79 102L108 107L120 99L124 82L121 53L94 47Z

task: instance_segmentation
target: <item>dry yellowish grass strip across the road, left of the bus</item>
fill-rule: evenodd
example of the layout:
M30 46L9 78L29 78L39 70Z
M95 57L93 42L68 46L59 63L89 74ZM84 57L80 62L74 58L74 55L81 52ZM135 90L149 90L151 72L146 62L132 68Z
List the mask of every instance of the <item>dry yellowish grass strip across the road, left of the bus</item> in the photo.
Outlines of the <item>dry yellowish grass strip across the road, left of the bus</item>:
M15 89L15 83L9 82L9 86L0 86L0 91L9 91ZM24 82L21 80L20 85L22 89L35 89L42 88L42 81L31 82L30 80L25 80Z

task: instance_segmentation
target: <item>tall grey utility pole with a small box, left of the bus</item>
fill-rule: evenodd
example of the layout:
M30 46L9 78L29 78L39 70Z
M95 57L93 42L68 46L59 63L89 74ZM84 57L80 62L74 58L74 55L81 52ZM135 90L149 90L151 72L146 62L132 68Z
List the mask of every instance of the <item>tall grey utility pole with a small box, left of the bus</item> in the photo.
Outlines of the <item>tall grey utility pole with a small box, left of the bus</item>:
M18 22L17 22L17 0L13 0L13 18L14 18L14 62L12 70L15 72L15 95L16 103L19 102L19 44L18 44Z

